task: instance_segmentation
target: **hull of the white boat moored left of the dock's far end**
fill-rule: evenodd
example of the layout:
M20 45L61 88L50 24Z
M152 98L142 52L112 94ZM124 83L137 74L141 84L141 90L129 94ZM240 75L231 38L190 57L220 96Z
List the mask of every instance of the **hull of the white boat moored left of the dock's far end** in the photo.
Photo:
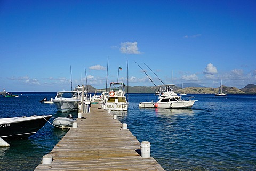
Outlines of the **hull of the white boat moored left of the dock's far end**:
M61 112L77 111L80 100L52 100L56 108Z

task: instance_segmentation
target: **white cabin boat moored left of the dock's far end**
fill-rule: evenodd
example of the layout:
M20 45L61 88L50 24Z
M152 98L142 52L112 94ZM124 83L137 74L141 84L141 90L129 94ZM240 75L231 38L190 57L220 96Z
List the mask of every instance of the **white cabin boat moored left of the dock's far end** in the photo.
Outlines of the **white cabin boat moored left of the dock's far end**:
M60 112L77 111L78 105L83 101L82 92L82 87L76 87L73 91L57 92L57 95L52 101ZM84 100L87 99L87 92L84 91Z

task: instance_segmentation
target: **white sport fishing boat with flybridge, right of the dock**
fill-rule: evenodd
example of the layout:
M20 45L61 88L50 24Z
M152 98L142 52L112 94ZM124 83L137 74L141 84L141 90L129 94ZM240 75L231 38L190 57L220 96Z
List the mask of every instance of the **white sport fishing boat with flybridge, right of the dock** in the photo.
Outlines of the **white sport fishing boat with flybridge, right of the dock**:
M157 102L140 102L141 108L191 108L195 101L194 97L189 97L188 100L183 100L174 91L174 84L159 85L159 96Z

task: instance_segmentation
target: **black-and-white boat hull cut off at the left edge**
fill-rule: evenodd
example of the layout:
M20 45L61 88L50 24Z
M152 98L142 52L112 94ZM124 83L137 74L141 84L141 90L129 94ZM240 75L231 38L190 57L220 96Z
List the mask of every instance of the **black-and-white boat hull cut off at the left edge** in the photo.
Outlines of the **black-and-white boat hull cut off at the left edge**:
M0 138L26 138L44 126L52 115L0 118Z

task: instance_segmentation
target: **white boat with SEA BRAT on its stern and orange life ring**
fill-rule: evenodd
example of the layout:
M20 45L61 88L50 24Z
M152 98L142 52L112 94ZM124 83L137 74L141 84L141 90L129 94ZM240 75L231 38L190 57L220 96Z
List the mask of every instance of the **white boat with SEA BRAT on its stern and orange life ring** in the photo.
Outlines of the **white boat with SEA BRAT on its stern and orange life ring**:
M102 102L102 108L105 110L128 110L129 102L125 96L124 83L111 82L109 96Z

